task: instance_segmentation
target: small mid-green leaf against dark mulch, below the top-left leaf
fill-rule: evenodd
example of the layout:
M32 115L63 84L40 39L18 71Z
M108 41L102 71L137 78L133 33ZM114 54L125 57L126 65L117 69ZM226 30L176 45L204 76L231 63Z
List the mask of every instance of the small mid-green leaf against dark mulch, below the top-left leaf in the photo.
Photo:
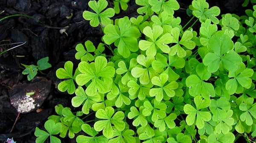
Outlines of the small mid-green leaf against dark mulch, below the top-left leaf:
M76 45L77 53L75 57L76 59L81 59L81 61L91 62L94 60L94 56L89 52L94 52L96 48L93 45L93 42L91 42L90 40L87 40L86 42L84 42L84 45L87 50L84 49L84 46L81 43Z

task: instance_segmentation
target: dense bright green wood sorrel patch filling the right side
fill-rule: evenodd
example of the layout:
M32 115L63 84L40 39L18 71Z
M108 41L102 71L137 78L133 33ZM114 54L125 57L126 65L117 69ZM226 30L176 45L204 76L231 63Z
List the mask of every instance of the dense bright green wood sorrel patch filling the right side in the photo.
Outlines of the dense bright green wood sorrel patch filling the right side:
M193 0L192 18L201 23L193 31L193 24L186 29L173 15L176 0L136 3L142 6L137 17L111 21L115 11L106 9L106 0L89 2L93 12L83 17L101 26L103 43L78 44L76 70L68 61L56 71L66 79L58 89L75 93L71 102L81 111L73 115L56 106L58 116L48 122L52 128L61 123L61 130L48 127L41 135L36 128L36 142L80 131L77 143L233 143L240 135L255 137L256 6L245 16L218 19L217 6ZM105 47L113 55L106 56ZM93 121L79 118L93 113Z

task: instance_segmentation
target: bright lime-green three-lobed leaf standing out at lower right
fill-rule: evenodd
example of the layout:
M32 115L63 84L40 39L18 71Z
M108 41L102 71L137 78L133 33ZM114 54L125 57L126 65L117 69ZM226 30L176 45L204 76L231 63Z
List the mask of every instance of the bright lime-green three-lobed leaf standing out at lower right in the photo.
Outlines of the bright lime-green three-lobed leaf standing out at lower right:
M210 121L212 115L210 112L200 111L200 109L209 107L210 100L203 99L202 96L198 95L195 96L194 101L196 109L190 104L184 106L184 112L187 114L186 123L191 126L195 123L196 118L196 126L198 129L202 129L204 127L204 121Z

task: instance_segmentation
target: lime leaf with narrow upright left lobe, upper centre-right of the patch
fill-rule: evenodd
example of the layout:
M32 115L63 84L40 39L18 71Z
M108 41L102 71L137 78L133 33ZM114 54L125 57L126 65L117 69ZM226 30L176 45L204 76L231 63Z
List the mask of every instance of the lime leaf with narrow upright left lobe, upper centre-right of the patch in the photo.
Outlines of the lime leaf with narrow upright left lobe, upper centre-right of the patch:
M195 42L192 41L191 39L193 38L193 33L192 31L185 31L179 40L180 37L180 29L175 27L172 28L171 31L172 34L172 42L171 43L176 43L171 47L171 50L169 52L169 55L174 56L177 53L177 56L180 58L183 58L186 56L186 51L181 47L183 45L185 48L192 50L195 48Z

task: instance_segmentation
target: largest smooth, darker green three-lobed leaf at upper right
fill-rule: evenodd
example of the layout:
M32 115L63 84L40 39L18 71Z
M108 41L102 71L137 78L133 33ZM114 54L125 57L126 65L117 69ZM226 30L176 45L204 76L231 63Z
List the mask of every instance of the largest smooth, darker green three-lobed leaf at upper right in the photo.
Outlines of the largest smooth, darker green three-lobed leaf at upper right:
M211 73L216 72L222 63L229 71L236 71L241 63L241 57L233 50L233 42L223 32L217 32L210 39L207 45L209 53L204 57L203 63L208 66Z

